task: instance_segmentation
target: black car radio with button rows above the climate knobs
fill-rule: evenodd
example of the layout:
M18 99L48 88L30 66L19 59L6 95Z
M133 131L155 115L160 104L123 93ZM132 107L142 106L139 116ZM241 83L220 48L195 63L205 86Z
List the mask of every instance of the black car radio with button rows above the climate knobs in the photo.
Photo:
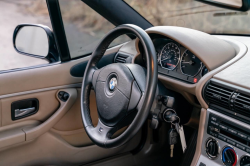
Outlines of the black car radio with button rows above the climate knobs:
M242 126L210 113L207 133L250 153L250 131Z

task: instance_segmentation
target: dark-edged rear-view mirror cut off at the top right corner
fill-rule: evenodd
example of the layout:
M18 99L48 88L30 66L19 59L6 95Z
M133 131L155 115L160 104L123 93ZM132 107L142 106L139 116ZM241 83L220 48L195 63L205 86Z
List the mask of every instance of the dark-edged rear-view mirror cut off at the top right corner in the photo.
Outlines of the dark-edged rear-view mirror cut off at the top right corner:
M250 0L196 0L209 5L231 9L236 11L248 11L250 8Z

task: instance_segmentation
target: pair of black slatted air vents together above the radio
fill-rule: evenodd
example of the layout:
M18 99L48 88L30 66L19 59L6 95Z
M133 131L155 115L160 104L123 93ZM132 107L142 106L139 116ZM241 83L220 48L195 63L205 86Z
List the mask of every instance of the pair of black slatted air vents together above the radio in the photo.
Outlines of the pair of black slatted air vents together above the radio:
M250 91L216 79L203 89L209 108L250 124Z

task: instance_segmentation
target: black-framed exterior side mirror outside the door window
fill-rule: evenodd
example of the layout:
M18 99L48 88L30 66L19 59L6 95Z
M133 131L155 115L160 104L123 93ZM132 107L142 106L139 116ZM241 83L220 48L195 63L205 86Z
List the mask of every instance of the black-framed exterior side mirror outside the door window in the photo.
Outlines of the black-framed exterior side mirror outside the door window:
M13 34L15 50L24 55L59 61L53 32L49 27L39 24L20 24Z

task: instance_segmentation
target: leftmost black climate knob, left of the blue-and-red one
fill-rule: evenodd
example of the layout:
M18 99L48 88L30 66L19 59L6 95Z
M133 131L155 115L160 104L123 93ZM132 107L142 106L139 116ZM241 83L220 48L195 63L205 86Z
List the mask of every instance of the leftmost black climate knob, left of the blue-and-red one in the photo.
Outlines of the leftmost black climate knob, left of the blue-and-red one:
M206 153L210 159L215 159L219 154L219 145L213 138L208 138L206 142Z

